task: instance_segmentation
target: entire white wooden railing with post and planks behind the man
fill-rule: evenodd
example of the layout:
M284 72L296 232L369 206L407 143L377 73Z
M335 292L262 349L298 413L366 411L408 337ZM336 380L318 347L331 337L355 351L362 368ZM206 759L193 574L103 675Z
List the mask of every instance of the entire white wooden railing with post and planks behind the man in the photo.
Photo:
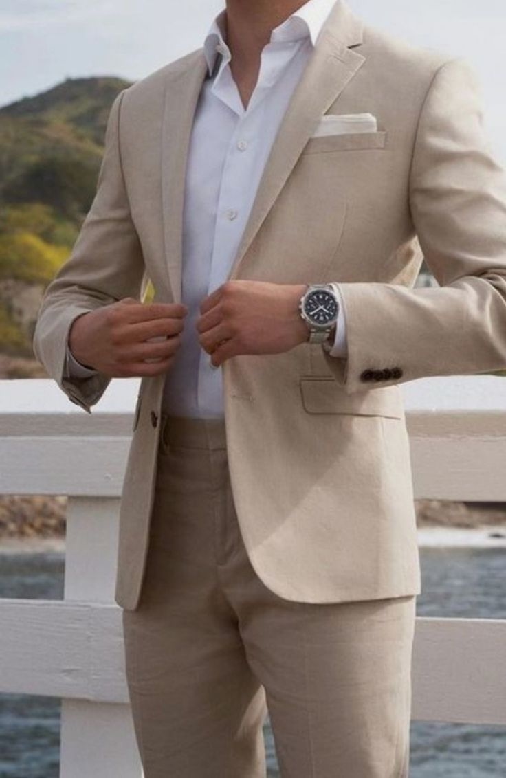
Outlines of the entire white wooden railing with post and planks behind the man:
M0 381L0 493L68 495L63 601L0 599L0 693L61 697L62 778L139 778L118 508L139 379L91 415L51 380ZM506 378L402 384L417 498L506 500ZM0 556L0 564L2 558ZM413 718L506 725L506 622L417 619Z

